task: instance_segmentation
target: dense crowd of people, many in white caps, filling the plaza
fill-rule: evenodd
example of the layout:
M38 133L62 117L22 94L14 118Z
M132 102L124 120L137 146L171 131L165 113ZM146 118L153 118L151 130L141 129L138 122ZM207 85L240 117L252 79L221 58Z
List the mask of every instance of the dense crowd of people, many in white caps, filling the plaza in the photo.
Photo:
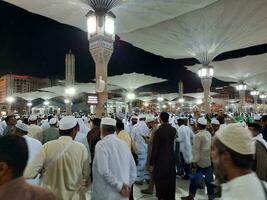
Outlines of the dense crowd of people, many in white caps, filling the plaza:
M249 119L249 120L248 120ZM0 199L267 199L267 115L9 115L0 122Z

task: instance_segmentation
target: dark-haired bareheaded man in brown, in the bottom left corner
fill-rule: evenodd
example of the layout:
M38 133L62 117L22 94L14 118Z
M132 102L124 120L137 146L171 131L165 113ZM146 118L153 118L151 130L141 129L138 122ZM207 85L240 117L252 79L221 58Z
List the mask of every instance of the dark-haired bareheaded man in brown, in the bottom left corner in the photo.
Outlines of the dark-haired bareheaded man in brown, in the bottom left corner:
M0 138L0 199L55 200L51 192L26 183L22 175L27 161L28 147L23 137Z

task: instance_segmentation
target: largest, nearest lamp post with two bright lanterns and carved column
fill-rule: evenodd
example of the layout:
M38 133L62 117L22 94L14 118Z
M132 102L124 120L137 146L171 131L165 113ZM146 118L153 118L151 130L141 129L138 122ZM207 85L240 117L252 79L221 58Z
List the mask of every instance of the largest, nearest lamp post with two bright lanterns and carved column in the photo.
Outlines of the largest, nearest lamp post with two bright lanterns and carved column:
M107 5L116 4L116 1L89 0L90 10L87 17L88 40L91 55L95 61L96 82L105 83L103 89L96 88L98 94L98 105L96 115L101 117L106 115L105 104L108 99L107 93L107 65L113 53L113 43L115 40L115 15L109 11L111 7ZM97 84L98 85L98 84Z

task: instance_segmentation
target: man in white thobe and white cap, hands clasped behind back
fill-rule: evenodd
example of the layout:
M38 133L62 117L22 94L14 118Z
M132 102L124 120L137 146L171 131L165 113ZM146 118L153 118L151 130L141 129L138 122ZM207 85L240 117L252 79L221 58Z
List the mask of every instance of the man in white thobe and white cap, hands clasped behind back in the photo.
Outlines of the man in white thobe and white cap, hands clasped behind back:
M92 200L128 200L136 166L127 144L114 133L116 120L102 118L93 161Z

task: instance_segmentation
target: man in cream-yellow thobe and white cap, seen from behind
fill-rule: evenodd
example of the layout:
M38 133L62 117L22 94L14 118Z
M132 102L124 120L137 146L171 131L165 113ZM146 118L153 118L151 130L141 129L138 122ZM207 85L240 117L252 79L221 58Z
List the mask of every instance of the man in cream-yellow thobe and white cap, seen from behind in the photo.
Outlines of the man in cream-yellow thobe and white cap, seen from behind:
M25 178L33 178L42 170L41 186L53 192L57 200L85 198L90 167L86 148L73 141L78 128L74 117L61 119L61 137L44 144L24 172Z

